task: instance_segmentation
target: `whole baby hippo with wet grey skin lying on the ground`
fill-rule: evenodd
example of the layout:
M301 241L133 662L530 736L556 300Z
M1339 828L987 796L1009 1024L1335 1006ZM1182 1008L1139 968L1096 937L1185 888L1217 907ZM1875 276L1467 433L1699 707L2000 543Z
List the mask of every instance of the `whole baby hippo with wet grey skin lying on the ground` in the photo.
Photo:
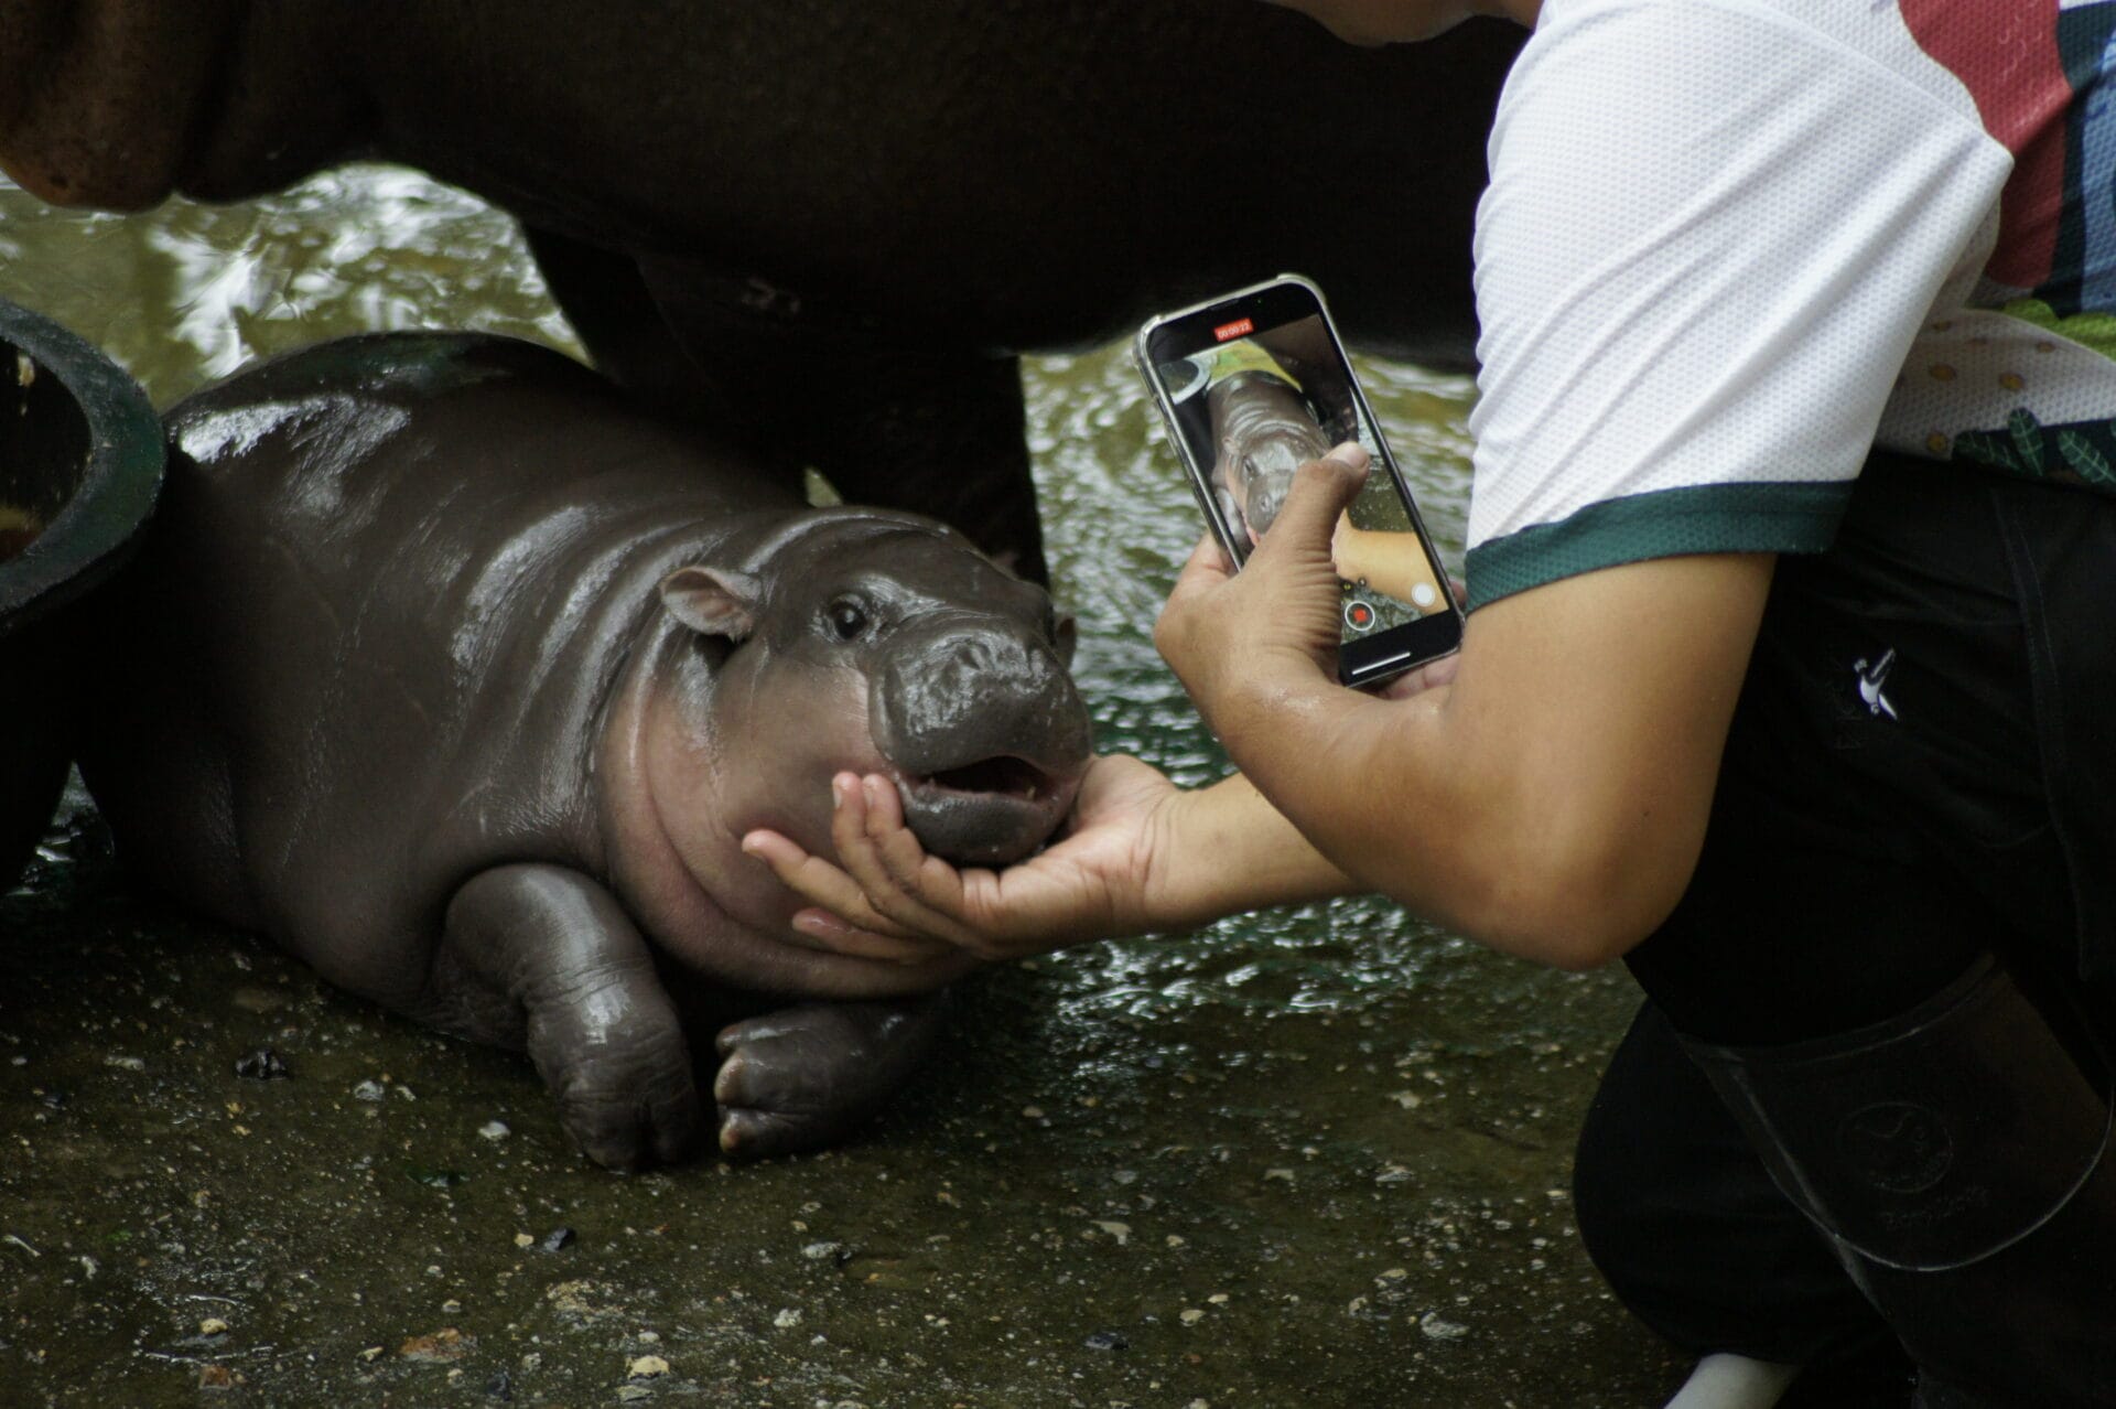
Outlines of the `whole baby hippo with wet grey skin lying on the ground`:
M804 948L741 836L827 850L851 768L944 855L1033 850L1088 757L1041 588L499 338L324 345L169 432L83 757L129 865L525 1047L609 1166L703 1134L686 1028L747 1015L717 1039L734 1153L829 1140L904 1077L967 965Z

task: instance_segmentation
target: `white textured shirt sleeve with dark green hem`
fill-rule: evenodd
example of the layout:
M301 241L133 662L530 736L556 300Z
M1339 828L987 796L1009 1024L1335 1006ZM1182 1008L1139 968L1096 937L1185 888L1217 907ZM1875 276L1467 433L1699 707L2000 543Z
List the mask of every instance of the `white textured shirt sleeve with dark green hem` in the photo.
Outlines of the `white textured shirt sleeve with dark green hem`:
M2012 167L1974 108L1739 0L1551 0L1490 161L1473 609L1826 548Z

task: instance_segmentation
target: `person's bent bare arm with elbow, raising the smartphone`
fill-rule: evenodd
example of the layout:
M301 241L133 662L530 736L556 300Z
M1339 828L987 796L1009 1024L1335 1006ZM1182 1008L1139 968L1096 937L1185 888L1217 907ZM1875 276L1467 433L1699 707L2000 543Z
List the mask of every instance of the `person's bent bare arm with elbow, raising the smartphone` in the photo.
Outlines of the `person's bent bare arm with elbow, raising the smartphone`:
M1329 523L1314 514L1350 491L1331 474L1301 472L1297 531L1314 556ZM1378 700L1337 688L1289 635L1248 630L1301 567L1284 554L1259 573L1261 556L1232 580L1193 565L1157 641L1320 855L1422 916L1564 967L1615 958L1665 918L1703 840L1775 559L1657 559L1519 592L1469 620L1447 685Z

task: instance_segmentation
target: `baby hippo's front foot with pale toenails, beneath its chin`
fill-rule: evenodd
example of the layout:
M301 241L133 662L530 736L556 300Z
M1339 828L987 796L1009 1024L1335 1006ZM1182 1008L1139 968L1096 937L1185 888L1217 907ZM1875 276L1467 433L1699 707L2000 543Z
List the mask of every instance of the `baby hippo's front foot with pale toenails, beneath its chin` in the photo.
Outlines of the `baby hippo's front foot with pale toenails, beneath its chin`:
M813 1003L719 1032L719 1149L821 1149L872 1117L933 1045L942 1001Z

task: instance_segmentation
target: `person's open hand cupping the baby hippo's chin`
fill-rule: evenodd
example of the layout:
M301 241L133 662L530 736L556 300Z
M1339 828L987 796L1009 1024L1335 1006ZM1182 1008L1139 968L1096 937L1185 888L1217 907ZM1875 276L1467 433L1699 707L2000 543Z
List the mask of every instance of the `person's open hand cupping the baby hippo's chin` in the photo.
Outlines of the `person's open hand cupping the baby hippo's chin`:
M990 872L929 857L904 825L904 800L889 779L840 774L832 791L836 865L777 831L743 838L743 850L815 903L794 927L846 954L874 954L878 939L927 939L988 960L1151 929L1168 812L1181 795L1136 757L1096 757L1064 838Z

